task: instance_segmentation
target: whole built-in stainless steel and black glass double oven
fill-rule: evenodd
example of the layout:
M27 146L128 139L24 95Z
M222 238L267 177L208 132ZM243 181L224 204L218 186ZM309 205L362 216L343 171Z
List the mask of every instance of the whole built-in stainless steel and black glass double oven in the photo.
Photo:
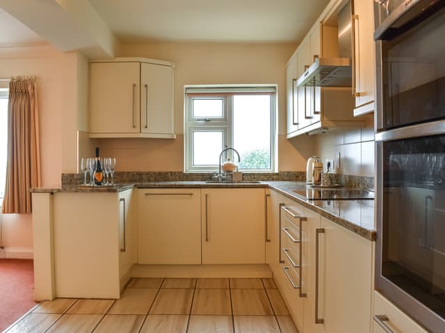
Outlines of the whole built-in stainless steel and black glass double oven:
M445 0L375 0L375 287L445 332Z

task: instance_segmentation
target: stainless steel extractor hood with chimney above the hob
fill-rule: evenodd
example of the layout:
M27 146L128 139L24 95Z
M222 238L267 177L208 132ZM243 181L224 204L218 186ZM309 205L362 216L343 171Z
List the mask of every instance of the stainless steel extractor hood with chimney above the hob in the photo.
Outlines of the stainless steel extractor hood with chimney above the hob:
M316 58L297 80L298 87L350 87L351 68L351 10L350 2L341 8L338 17L340 58Z

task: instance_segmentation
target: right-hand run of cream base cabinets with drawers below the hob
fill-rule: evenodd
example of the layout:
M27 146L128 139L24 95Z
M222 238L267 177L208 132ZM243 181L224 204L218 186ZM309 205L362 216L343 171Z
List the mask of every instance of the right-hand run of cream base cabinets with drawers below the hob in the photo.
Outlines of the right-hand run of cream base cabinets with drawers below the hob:
M373 242L273 191L270 198L270 224L281 229L271 243L285 250L270 267L299 332L371 332Z

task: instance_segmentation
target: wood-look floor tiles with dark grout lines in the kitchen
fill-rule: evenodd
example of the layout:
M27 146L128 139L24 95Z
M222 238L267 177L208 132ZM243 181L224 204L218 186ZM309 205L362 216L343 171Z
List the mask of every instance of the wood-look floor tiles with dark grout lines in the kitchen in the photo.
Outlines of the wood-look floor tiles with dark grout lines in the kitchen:
M41 302L7 333L296 333L272 279L133 278L120 300Z

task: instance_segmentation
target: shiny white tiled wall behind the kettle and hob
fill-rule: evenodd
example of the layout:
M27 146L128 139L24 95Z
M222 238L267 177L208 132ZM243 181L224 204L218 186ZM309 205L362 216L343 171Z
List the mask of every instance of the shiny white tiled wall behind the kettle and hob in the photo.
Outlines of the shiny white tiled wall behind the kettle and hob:
M338 129L317 135L316 151L324 165L326 159L333 160L340 153L340 168L336 173L373 177L373 119L366 119L366 128Z

